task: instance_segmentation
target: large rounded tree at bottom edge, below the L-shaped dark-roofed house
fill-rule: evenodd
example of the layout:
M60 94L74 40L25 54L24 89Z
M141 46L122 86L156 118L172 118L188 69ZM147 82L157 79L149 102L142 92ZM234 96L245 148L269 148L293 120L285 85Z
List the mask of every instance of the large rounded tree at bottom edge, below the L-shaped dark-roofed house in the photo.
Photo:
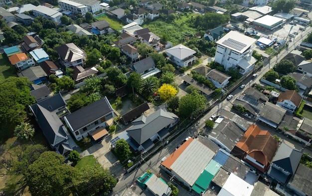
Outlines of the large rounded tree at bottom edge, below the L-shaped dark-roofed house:
M27 168L25 182L32 196L68 196L75 168L65 158L47 151Z

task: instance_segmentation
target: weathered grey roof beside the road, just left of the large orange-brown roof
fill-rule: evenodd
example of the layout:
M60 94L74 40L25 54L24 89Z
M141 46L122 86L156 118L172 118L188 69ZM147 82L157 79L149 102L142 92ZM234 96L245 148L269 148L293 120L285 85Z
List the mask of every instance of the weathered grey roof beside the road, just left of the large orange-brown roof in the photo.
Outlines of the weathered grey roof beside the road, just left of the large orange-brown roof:
M244 135L244 132L234 122L224 118L209 135L217 139L229 150L232 150Z

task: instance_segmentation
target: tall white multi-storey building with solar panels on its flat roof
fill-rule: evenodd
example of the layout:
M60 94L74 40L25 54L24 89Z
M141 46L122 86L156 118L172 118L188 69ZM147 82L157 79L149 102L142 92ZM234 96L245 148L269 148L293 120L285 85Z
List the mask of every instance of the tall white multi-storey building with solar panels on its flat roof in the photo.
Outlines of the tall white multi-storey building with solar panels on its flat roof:
M252 57L251 46L256 39L236 31L230 31L217 41L217 50L214 60L224 66L227 71L230 67L239 69L244 75L251 71L257 61Z

